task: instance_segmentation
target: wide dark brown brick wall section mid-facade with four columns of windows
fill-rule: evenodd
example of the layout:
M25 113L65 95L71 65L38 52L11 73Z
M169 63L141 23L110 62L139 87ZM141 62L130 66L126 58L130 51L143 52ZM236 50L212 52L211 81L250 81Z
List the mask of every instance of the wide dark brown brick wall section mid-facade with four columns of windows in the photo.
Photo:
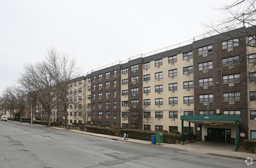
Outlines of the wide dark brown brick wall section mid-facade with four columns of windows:
M96 75L95 81L93 81L93 77L91 77L91 122L95 121L95 126L98 126L98 121L102 122L102 125L105 125L105 122L109 122L110 126L113 123L117 123L117 126L120 127L120 99L121 99L121 70L117 69L117 74L114 76L114 71L110 71L110 76L106 78L106 72L102 72L102 79L98 79L98 75ZM114 86L114 81L117 81L117 85ZM106 87L106 82L110 82L110 86ZM98 89L98 84L102 83L102 88ZM93 85L96 85L96 89L93 90ZM114 97L114 91L117 91L117 96ZM106 98L106 92L110 92L110 96ZM102 98L98 98L98 93L102 93ZM95 99L93 99L93 94L95 94ZM116 108L114 108L114 101L117 102ZM102 107L98 107L98 102L102 102ZM106 108L105 102L110 102L110 106ZM95 103L95 108L93 108L93 103ZM93 112L95 112L95 116L93 116ZM98 112L102 112L102 117L98 116ZM107 118L105 116L105 112L110 112L110 116ZM116 118L114 118L113 114L117 112Z

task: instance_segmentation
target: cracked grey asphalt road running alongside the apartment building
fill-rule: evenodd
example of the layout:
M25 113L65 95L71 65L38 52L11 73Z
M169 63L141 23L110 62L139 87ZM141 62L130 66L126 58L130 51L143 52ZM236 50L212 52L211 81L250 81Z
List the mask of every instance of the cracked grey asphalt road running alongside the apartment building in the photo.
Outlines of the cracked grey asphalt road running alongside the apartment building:
M255 165L252 165L253 167ZM244 160L198 155L45 126L0 121L3 168L242 168Z

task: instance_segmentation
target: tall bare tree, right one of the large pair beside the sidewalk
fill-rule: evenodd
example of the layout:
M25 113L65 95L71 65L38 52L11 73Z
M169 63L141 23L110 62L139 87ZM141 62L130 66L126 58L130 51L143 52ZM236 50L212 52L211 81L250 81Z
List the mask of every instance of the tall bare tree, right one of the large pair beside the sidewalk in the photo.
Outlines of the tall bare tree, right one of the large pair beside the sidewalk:
M60 54L56 49L48 49L46 60L48 73L51 74L55 84L55 92L59 103L62 104L65 111L65 123L67 130L69 129L67 108L70 104L74 104L74 97L78 92L69 92L74 88L74 82L81 74L81 69L76 65L74 58L69 58L65 53ZM81 88L82 89L82 88Z

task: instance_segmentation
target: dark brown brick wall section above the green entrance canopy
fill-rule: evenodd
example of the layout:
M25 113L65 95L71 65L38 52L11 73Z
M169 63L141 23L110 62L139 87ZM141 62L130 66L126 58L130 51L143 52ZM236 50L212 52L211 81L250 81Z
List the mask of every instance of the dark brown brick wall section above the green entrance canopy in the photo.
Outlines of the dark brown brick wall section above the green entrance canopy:
M245 43L245 36L239 38L242 43ZM222 59L240 56L241 60L238 65L234 65L233 68L228 66L222 66ZM246 59L246 46L240 43L239 46L233 47L233 51L228 49L222 49L222 42L212 44L212 52L208 53L208 56L198 55L198 49L193 49L193 61L194 61L194 107L195 115L199 115L201 110L213 110L214 115L223 115L224 110L241 110L241 127L240 132L245 132L248 138L248 111L247 111L247 65ZM243 59L242 59L243 58ZM213 69L208 69L208 72L203 73L199 71L198 64L208 61L213 61ZM223 84L222 76L240 74L239 83L234 83L233 87L229 87L228 84ZM213 78L213 85L208 86L208 89L199 87L199 79ZM219 84L216 84L216 83ZM240 101L234 101L234 104L229 104L228 101L223 101L223 93L228 92L240 92ZM214 102L204 105L199 103L199 95L202 94L214 94ZM216 109L220 110L220 114L216 114ZM197 125L195 125L195 128ZM202 130L202 129L201 129ZM201 131L195 129L195 134L200 135Z

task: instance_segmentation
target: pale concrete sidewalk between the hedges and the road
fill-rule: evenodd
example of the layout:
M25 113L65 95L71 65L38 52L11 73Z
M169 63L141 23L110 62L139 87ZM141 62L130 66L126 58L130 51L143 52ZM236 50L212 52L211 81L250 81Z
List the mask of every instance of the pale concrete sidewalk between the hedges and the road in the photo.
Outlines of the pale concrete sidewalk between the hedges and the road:
M118 140L118 141L125 141L125 142L129 142L129 143L152 145L151 141L143 141L143 140L139 140L139 139L128 138L128 141L127 141L127 140L124 140L123 137L96 134L96 133L79 131L79 130L64 130L63 128L58 128L58 127L49 127L49 128L68 131L68 132L74 132L74 133L78 133L78 134L93 135L96 137L103 137L103 138L108 138L108 139L113 139L113 140ZM211 144L211 145L209 145L209 144ZM217 155L217 156L222 156L222 157L230 157L230 158L243 159L243 160L245 160L247 157L250 157L253 160L256 160L256 154L245 153L245 152L234 152L233 151L234 145L232 145L232 144L225 143L225 146L223 146L223 144L221 144L219 146L216 144L218 144L218 143L198 141L198 142L189 143L186 145L163 143L163 145L154 145L154 146L160 146L160 147L171 148L171 149L176 149L176 150L183 150L183 151L194 152L194 153L198 153L198 154Z

